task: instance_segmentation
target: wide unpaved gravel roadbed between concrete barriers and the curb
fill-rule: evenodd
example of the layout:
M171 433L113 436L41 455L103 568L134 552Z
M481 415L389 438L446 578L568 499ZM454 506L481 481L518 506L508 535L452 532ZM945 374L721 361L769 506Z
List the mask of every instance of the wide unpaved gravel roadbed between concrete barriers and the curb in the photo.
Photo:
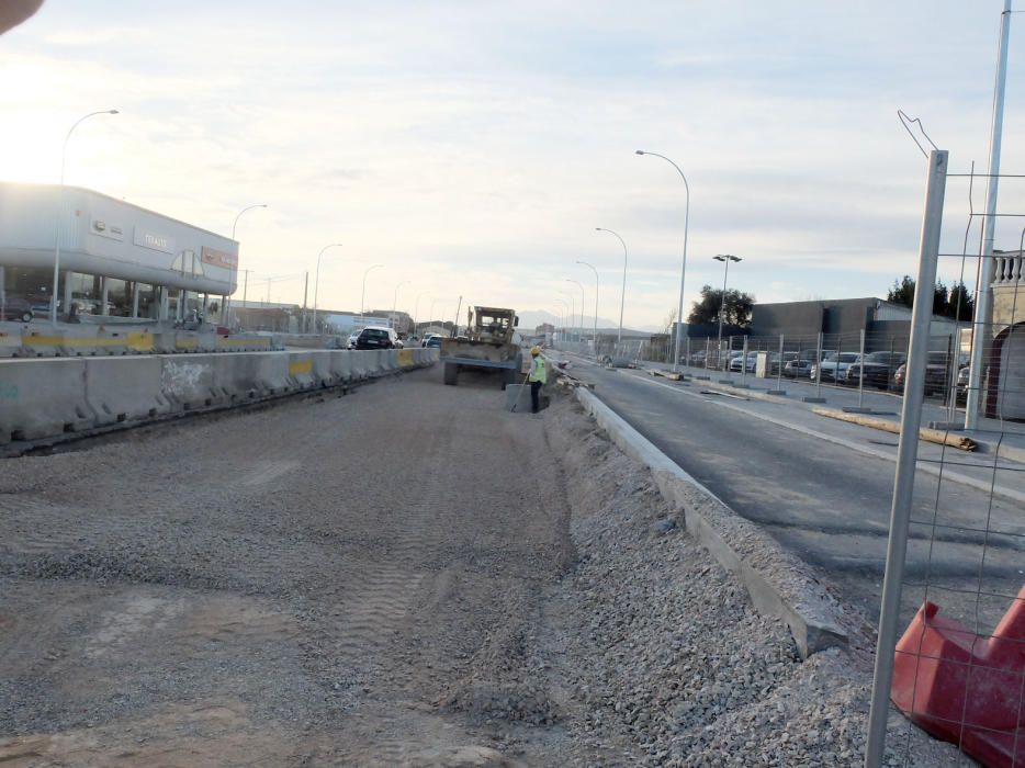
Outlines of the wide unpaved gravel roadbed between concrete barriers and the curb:
M863 647L801 663L566 398L440 374L5 461L0 764L860 765Z

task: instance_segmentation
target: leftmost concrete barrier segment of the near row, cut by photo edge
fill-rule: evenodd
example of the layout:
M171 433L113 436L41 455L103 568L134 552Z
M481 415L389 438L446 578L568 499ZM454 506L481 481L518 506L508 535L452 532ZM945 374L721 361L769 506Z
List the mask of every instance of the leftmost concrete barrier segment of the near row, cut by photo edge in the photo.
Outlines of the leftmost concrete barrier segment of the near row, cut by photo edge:
M86 361L0 361L0 443L38 440L89 429Z

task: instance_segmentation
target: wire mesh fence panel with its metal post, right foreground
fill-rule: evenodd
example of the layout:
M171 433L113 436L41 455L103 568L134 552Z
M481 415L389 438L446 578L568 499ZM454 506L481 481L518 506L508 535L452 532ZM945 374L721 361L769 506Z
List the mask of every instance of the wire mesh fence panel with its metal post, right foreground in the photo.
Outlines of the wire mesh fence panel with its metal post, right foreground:
M1025 306L1018 302L1025 230L1016 252L991 255L982 228L979 255L969 255L970 233L983 223L969 210L961 252L942 253L950 178L946 153L932 153L916 305L930 303L940 263L962 279L978 269L977 301L990 304L971 332L958 332L945 348L927 334L931 307L915 308L904 352L868 766L920 765L919 729L983 765L1025 766ZM930 417L924 395L936 387L949 408L945 423L933 421L944 437L933 447L916 438ZM947 440L951 434L969 438L976 451L953 448L959 443ZM967 504L966 486L972 489Z

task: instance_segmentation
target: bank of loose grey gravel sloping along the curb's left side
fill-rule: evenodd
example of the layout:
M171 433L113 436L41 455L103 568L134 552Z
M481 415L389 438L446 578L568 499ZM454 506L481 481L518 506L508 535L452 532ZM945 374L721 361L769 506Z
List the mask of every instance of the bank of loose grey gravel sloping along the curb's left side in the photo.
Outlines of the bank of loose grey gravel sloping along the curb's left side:
M871 656L861 639L802 662L787 628L682 529L651 474L575 403L548 418L579 554L554 612L578 707L566 725L609 765L861 765ZM973 765L915 734L891 765ZM574 765L585 765L581 761Z

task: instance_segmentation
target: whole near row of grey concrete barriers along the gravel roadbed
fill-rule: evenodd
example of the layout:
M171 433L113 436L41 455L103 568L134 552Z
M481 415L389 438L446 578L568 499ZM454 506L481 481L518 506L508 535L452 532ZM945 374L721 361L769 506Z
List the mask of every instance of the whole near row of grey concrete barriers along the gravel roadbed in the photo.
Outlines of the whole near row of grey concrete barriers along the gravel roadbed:
M0 360L0 445L345 386L437 360L436 349Z

